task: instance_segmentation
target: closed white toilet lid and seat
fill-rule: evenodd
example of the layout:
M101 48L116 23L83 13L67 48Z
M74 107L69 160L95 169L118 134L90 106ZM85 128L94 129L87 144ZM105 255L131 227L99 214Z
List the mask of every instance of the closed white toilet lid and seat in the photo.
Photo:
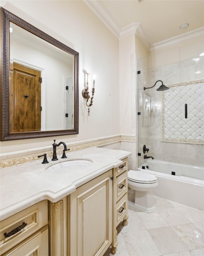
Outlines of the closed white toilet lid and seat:
M137 183L155 183L157 182L157 177L150 173L130 170L128 172L128 180Z

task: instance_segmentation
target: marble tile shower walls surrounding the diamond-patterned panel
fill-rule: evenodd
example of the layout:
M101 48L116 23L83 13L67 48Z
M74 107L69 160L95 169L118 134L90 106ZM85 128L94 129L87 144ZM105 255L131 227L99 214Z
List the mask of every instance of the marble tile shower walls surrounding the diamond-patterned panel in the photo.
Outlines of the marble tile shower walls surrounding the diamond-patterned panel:
M138 116L138 133L141 137L140 141L142 141L142 143L139 143L139 146L143 147L142 144L145 144L149 148L148 156L153 156L159 160L204 166L203 145L161 141L161 93L157 92L156 88L143 90L144 82L148 83L147 87L150 87L156 80L162 80L168 86L168 84L203 79L204 57L199 57L198 60L197 56L195 56L195 58L188 60L151 67L148 69L147 76L147 66L144 67L146 60L139 60L138 63L140 62L142 63L140 64L141 68L145 68L145 72L142 76L140 74L140 78L138 78L138 88L140 91L140 93L138 92L140 95L138 98L138 109L140 107L140 111L143 113L143 115ZM138 160L139 164L144 162L143 157Z

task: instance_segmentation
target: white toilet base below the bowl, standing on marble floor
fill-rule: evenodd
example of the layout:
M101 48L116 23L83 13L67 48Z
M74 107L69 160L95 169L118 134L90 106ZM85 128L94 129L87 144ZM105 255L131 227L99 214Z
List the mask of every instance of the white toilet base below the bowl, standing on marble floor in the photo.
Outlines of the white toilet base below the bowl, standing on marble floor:
M137 191L128 188L128 205L141 212L154 212L152 191Z

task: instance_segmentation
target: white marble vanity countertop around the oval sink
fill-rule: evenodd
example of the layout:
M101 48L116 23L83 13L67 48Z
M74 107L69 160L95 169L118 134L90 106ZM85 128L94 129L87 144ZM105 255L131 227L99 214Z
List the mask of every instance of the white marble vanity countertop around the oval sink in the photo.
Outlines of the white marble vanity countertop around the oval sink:
M20 164L0 171L1 202L0 220L20 212L44 199L53 203L68 196L84 183L100 174L122 164L121 160L131 153L107 148L87 148L75 152L66 152L67 158L58 157L58 161L47 158L48 164L41 164L42 159L32 163ZM83 170L50 172L51 165L72 160L87 159L93 164Z

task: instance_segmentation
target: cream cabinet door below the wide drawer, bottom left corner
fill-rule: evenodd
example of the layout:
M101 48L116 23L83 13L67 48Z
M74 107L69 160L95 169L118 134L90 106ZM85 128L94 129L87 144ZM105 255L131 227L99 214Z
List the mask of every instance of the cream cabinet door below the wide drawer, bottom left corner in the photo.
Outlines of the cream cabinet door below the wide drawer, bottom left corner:
M48 228L25 243L21 243L2 256L48 256Z

